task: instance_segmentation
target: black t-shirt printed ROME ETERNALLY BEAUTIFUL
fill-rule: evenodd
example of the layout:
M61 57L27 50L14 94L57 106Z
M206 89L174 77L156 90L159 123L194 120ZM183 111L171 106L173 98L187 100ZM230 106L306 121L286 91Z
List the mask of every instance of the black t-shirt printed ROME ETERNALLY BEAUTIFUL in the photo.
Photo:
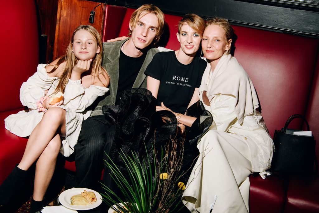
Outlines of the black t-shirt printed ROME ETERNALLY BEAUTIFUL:
M158 52L145 70L145 75L160 81L157 100L174 112L185 113L199 88L207 62L195 57L190 64L182 64L174 51Z

